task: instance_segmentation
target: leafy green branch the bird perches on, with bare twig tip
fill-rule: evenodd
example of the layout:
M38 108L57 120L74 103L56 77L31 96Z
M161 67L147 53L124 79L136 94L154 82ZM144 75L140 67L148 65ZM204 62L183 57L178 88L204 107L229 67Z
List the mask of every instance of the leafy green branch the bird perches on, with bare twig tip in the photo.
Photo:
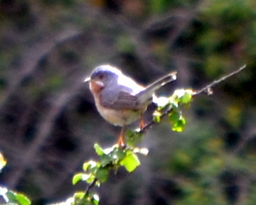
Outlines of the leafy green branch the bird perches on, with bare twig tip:
M74 205L97 205L100 197L93 192L92 189L100 187L100 184L106 182L110 171L117 171L120 167L124 167L127 172L133 172L140 165L139 156L147 155L146 148L137 148L136 144L142 139L142 135L156 123L160 123L164 116L169 117L173 131L182 132L186 125L186 119L182 115L182 109L188 108L194 96L206 92L212 94L212 87L225 79L232 77L234 74L241 72L245 65L238 70L226 74L224 77L213 81L206 87L198 91L192 89L177 89L172 96L160 97L157 102L157 109L153 113L153 118L143 128L135 131L127 131L127 145L119 147L118 145L112 148L103 149L100 145L95 144L95 152L99 156L98 161L88 161L82 166L83 172L75 174L73 184L78 182L86 182L88 184L85 192L77 192L75 195L66 201L67 204Z

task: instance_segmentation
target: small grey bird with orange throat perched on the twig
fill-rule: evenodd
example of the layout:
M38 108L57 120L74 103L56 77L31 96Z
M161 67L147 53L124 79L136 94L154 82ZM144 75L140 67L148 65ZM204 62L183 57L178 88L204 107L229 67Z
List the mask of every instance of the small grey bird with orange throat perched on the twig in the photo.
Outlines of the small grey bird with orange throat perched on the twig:
M100 65L92 70L84 82L90 84L100 115L114 126L122 126L118 138L118 145L122 147L125 126L142 119L142 114L155 98L154 92L175 79L176 72L171 72L143 87L116 67ZM141 121L141 128L142 124Z

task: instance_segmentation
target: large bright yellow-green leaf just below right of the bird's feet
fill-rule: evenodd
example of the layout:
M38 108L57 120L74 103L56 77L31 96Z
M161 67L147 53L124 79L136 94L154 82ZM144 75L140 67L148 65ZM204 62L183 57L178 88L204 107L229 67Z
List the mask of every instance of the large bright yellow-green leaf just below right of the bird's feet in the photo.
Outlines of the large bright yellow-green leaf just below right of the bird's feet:
M124 166L128 172L132 172L140 165L139 158L132 151L127 150L127 155L120 162L120 165Z

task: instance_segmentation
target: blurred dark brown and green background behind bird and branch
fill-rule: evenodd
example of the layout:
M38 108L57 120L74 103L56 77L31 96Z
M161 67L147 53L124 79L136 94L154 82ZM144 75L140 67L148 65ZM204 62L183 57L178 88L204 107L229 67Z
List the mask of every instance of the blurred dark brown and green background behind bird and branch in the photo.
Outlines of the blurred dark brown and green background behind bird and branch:
M94 143L107 148L120 131L82 83L106 63L141 84L176 70L164 96L247 68L196 96L183 133L167 118L151 128L142 166L113 173L100 204L256 203L255 0L1 0L2 186L33 204L85 189L73 174L97 160Z

